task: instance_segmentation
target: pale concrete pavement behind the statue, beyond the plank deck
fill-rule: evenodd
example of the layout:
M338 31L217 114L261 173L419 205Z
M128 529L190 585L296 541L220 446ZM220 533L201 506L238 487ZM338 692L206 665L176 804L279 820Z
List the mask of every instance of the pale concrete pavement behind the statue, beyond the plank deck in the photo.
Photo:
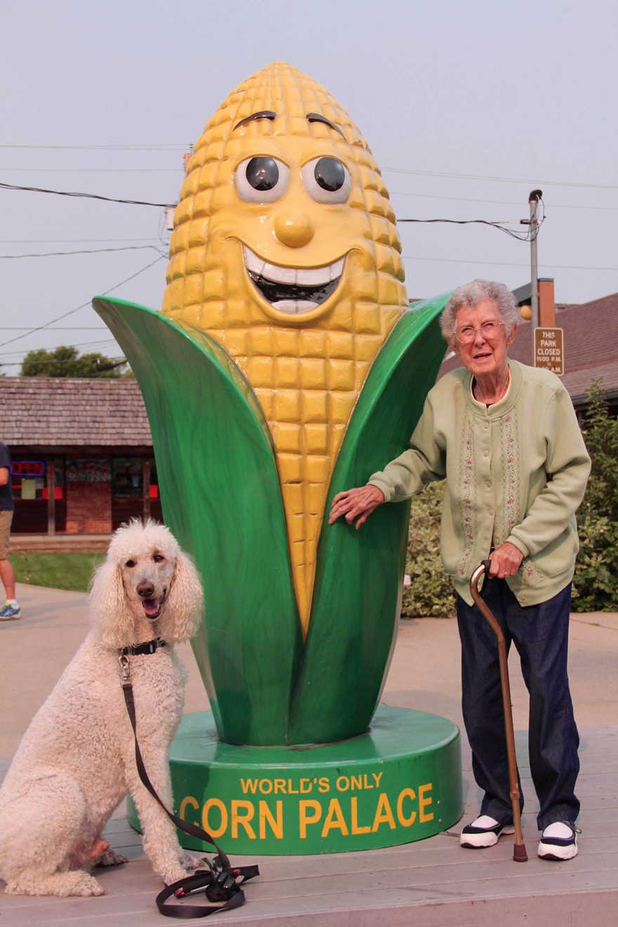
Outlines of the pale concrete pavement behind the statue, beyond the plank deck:
M0 622L0 756L12 756L37 708L88 630L86 595L18 585L22 617ZM573 615L569 675L580 727L618 724L618 615ZM204 711L208 699L191 646L180 653L189 669L185 711ZM511 653L513 721L527 728L527 692L518 656ZM399 624L386 679L386 705L442 715L463 727L460 643L454 619L422 618Z

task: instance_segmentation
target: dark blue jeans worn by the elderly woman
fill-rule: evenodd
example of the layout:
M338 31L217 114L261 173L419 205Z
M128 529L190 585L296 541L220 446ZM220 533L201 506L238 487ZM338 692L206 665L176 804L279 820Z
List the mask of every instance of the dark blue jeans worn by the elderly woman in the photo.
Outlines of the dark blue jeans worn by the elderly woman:
M514 642L530 693L530 771L540 804L539 830L574 821L579 735L567 675L571 584L547 602L523 607L504 579L486 579L484 601L507 641ZM473 751L474 779L485 791L481 814L512 820L498 642L478 608L458 595L463 720ZM520 785L521 793L521 785ZM523 796L521 801L523 808Z

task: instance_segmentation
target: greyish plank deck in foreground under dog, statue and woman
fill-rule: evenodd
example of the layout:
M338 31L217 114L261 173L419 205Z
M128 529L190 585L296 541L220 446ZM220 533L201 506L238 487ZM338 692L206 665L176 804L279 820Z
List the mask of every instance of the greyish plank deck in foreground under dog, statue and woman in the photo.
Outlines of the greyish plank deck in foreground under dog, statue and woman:
M565 863L536 857L536 801L529 798L523 838L529 861L512 860L512 837L484 851L463 850L459 827L428 840L384 850L323 857L263 857L260 879L246 886L246 906L227 912L223 922L241 927L500 927L554 924L612 927L618 923L618 776L601 773L597 763L616 756L618 726L582 731L586 749L582 778L599 786L603 808L584 798L580 854ZM527 768L526 737L516 734L522 769ZM466 748L467 749L467 748ZM464 753L465 755L465 753ZM469 767L469 765L468 765ZM618 761L614 768L618 768ZM469 768L465 818L477 810L477 790ZM523 774L524 794L531 783ZM585 790L586 791L586 790ZM602 813L599 813L601 812ZM141 838L117 809L107 840L131 858L127 865L98 870L107 888L102 898L35 898L0 895L2 923L105 927L154 927L161 916L154 899L160 883L144 857ZM234 862L256 861L234 857ZM193 899L201 903L200 896Z

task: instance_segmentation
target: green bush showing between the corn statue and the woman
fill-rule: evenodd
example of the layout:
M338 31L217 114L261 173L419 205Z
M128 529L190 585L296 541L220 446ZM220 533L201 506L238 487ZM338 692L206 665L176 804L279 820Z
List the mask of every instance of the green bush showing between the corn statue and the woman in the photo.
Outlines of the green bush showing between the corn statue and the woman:
M447 618L455 613L455 596L450 579L440 562L440 513L444 483L430 483L412 499L405 586L401 616Z

